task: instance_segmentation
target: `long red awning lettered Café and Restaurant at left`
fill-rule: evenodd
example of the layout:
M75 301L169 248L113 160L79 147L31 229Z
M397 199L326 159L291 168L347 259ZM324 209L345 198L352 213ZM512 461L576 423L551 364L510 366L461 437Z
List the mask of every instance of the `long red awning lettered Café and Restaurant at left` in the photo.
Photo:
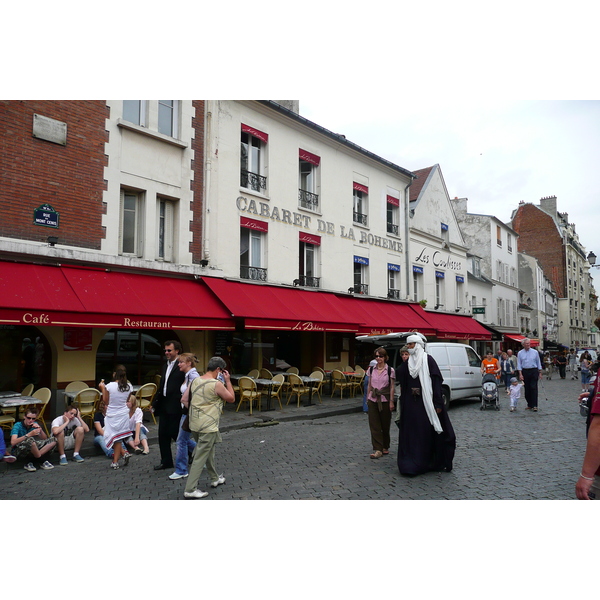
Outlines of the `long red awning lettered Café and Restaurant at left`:
M195 280L13 263L0 263L0 324L235 329Z

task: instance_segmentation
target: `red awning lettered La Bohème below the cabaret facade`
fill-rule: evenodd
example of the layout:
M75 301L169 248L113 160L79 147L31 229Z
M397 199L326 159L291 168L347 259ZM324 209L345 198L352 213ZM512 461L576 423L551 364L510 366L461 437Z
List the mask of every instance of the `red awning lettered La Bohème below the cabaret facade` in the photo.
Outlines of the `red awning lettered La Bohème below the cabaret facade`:
M204 277L204 283L247 329L356 333L361 315L340 308L328 292Z

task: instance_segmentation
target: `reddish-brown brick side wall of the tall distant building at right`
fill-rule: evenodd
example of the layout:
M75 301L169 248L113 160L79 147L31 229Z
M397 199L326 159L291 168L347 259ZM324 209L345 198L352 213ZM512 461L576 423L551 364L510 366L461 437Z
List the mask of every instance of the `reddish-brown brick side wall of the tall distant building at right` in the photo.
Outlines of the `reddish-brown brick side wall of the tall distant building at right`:
M512 221L518 249L538 259L559 298L567 297L562 238L550 215L533 204L521 204Z

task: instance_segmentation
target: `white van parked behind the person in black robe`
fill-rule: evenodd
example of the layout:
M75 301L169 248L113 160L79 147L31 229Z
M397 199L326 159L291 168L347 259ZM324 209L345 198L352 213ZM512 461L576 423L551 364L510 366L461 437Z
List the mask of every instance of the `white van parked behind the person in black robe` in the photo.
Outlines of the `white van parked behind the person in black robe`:
M389 364L396 369L402 358L400 348L406 343L406 338L414 332L390 333L388 335L359 336L356 341L372 343L373 350L379 346L386 349ZM419 334L421 335L421 334ZM426 338L424 336L423 339ZM452 342L427 342L425 350L435 359L444 383L442 389L444 402L461 398L472 398L481 395L481 358L467 344Z

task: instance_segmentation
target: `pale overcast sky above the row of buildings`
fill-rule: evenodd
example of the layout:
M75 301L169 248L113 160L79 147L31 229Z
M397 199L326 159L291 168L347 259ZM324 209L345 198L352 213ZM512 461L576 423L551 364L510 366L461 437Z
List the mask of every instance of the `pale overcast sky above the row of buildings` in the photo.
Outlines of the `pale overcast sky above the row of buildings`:
M556 196L586 251L600 257L600 101L362 104L300 99L300 114L406 169L439 164L450 197L468 198L472 213L507 223L519 201Z

